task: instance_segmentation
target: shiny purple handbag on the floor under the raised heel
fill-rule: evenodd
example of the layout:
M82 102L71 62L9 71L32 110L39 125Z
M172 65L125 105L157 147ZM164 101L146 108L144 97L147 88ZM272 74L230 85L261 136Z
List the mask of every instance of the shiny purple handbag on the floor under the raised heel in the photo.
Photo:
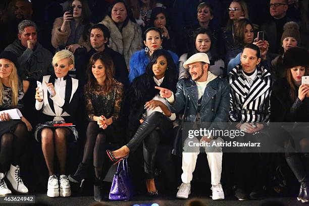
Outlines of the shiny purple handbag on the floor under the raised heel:
M118 163L109 195L110 200L128 201L132 197L132 183L129 177L127 159Z

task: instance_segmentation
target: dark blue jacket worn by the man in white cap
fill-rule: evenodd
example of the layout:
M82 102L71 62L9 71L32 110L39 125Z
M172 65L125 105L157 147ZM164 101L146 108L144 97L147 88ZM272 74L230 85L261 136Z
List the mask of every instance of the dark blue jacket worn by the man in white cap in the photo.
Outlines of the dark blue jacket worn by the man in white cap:
M211 122L210 128L224 129L228 121L229 112L229 89L226 79L217 77L209 82L204 90L201 106L200 119L197 115L198 93L197 86L191 79L181 79L177 83L177 91L174 94L175 102L169 104L172 113L179 113L184 109L186 98L188 98L187 122ZM218 124L220 122L220 124Z

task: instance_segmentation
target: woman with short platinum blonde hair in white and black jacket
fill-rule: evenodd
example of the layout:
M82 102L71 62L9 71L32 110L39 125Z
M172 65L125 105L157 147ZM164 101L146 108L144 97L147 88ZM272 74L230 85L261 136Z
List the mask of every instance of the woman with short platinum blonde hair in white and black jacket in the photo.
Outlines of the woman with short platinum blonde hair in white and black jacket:
M41 115L34 135L35 140L41 142L49 173L47 196L66 197L71 196L65 171L67 142L76 142L78 138L75 121L82 92L78 80L68 75L69 70L74 68L73 53L61 50L56 53L52 63L55 73L43 76L41 86L36 88L35 109L41 111ZM55 154L59 161L57 172Z

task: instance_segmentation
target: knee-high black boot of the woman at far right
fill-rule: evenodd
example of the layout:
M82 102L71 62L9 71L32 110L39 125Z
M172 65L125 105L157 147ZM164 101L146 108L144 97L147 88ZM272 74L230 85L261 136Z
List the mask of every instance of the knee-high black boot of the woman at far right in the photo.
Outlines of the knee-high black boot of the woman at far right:
M303 199L305 198L304 201L309 201L308 176L303 166L303 162L301 161L300 157L295 153L294 155L286 157L285 159L287 164L293 171L294 175L296 176L298 182L300 183L297 200L303 202Z

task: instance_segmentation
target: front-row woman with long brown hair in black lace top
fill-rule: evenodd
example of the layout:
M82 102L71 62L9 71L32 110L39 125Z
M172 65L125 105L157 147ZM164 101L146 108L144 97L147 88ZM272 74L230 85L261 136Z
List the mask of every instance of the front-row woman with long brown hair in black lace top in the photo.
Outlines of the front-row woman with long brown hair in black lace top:
M120 148L124 143L120 134L118 119L123 98L123 84L113 78L114 64L109 55L95 53L89 61L87 70L88 82L84 88L86 111L88 114L87 140L83 160L71 182L82 183L85 179L90 160L93 157L95 171L94 200L101 201L100 179L104 179L103 166L109 168L107 149Z

